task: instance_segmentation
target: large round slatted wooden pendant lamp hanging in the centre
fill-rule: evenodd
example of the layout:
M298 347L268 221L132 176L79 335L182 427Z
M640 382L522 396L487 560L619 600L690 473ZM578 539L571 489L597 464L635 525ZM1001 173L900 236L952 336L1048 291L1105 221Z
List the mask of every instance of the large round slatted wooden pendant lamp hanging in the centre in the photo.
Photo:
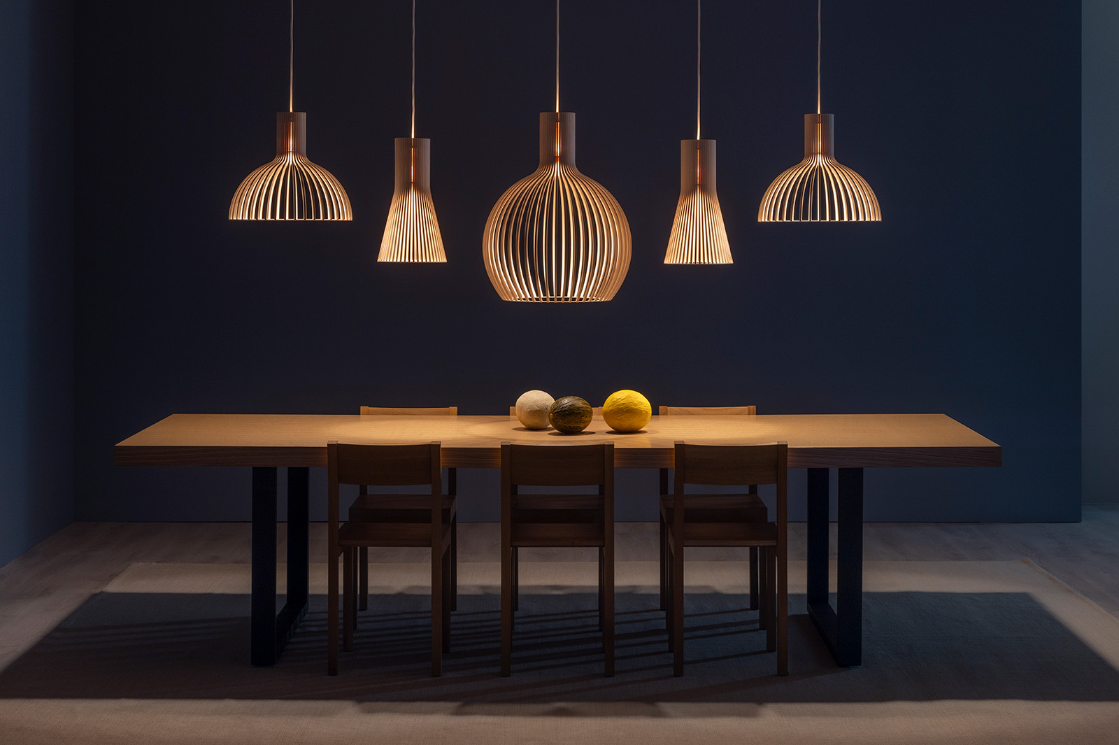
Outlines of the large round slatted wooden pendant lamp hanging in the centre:
M614 296L630 262L630 229L618 201L575 167L575 114L544 112L536 171L506 191L486 220L482 257L501 300L600 302Z

